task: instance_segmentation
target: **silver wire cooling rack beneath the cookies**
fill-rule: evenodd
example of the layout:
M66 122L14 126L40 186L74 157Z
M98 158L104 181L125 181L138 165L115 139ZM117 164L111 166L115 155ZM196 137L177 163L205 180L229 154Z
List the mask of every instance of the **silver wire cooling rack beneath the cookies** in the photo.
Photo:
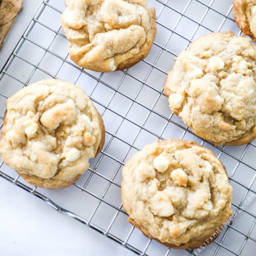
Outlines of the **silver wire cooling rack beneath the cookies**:
M150 54L135 67L96 73L77 67L69 58L60 27L63 0L43 1L0 73L0 118L6 99L29 83L59 78L80 86L94 101L106 127L101 154L74 185L58 190L33 187L3 162L0 177L44 200L62 214L99 231L141 255L253 255L256 245L255 140L237 147L215 147L195 136L169 108L163 94L173 59L195 38L213 31L240 30L232 17L231 0L151 0L156 8L157 35ZM233 187L233 221L218 239L199 250L174 250L147 239L127 223L121 198L123 164L157 139L193 140L210 148L227 167Z

